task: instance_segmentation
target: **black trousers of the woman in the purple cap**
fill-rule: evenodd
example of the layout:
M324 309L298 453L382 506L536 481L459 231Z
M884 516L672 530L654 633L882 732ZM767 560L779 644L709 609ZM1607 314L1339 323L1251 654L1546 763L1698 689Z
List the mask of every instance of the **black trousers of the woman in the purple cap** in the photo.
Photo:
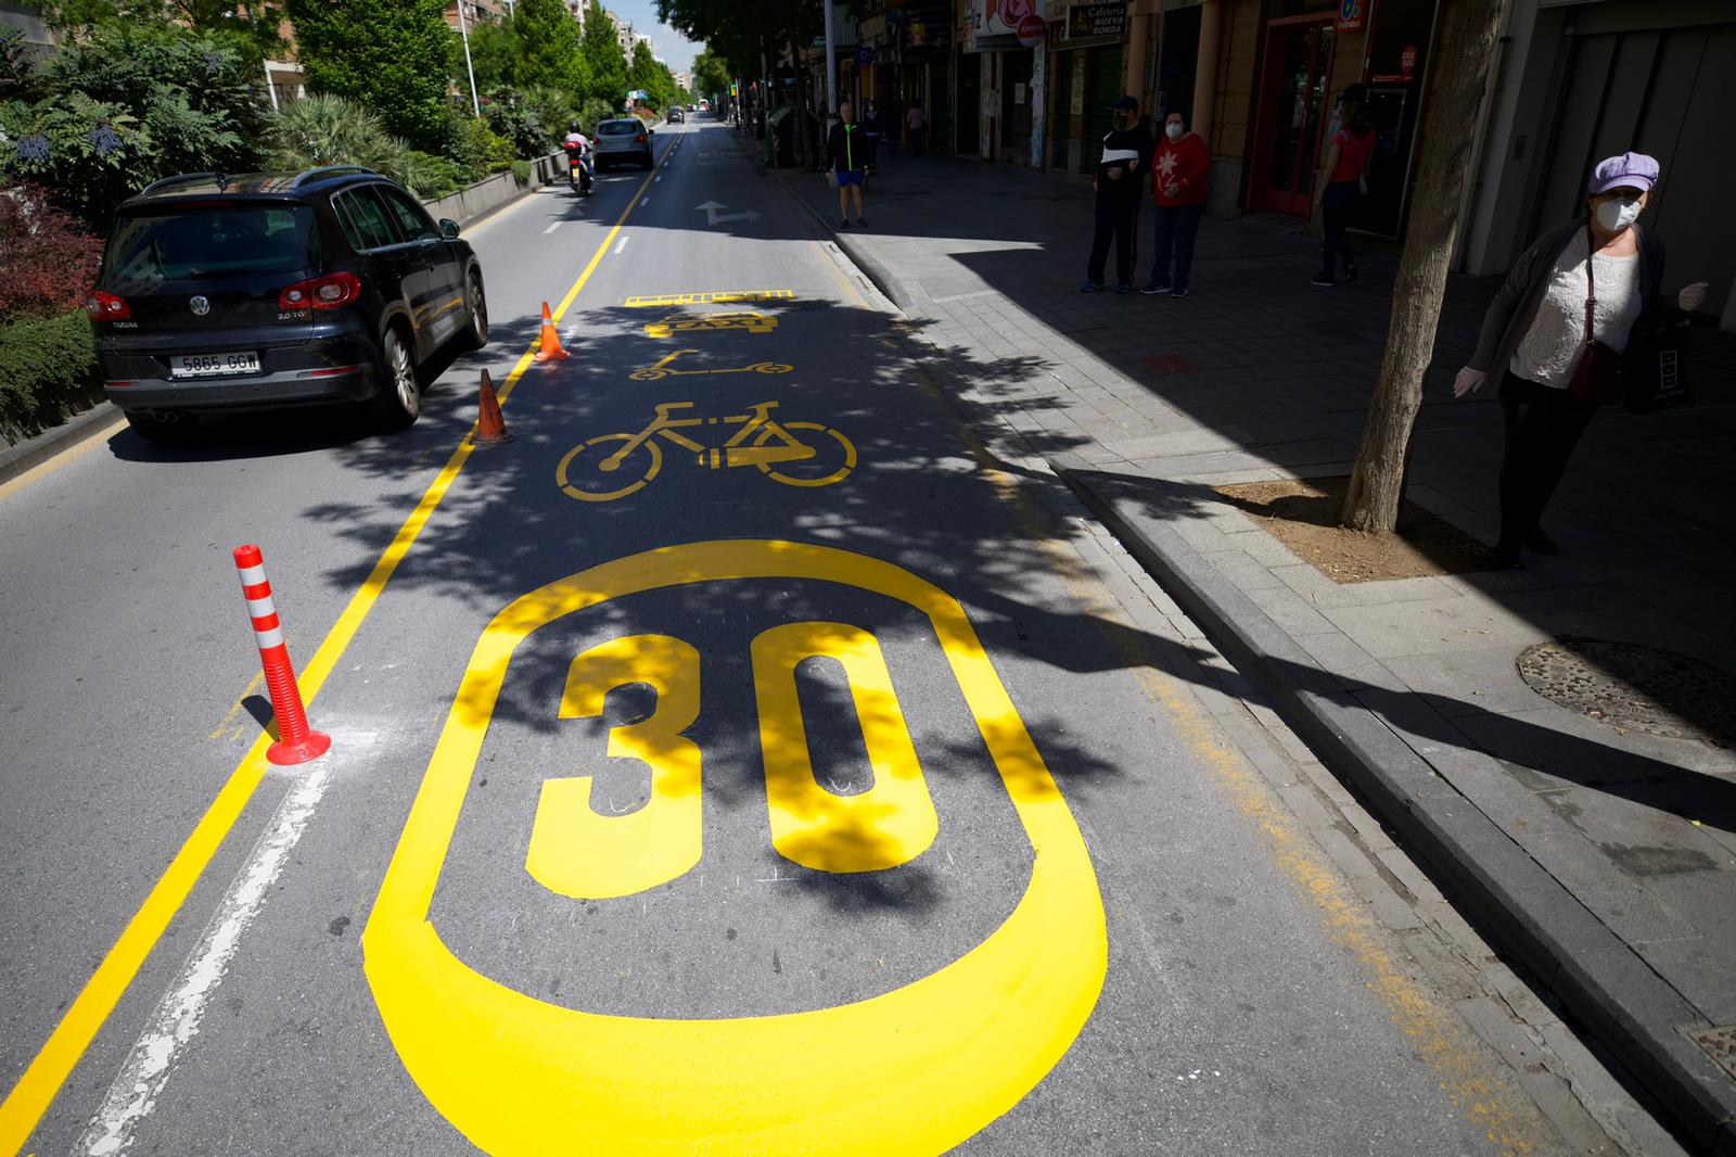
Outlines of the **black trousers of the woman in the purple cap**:
M1580 445L1580 434L1597 413L1597 403L1512 372L1502 379L1500 396L1507 446L1502 452L1502 539L1496 549L1517 551L1536 530L1555 483L1568 471L1573 448Z

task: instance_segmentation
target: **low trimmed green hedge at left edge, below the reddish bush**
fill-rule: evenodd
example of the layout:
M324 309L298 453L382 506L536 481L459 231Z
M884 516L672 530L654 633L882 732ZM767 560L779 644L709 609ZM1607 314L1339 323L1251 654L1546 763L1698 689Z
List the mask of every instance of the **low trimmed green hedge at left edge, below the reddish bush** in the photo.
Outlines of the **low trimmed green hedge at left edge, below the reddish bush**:
M83 309L0 325L0 436L21 441L102 396Z

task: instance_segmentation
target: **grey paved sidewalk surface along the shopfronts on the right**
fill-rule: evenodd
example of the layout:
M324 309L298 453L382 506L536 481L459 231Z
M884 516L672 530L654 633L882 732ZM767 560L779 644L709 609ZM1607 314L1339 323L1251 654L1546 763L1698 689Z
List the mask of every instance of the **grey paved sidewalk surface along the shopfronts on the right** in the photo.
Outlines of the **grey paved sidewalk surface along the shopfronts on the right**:
M781 174L832 221L835 193ZM993 413L1009 460L1163 478L1161 516L1705 1015L1736 1023L1736 756L1550 702L1517 657L1562 636L1641 643L1729 678L1736 615L1736 339L1696 325L1698 398L1606 407L1516 572L1337 585L1213 486L1349 473L1396 259L1309 285L1318 241L1264 221L1200 229L1186 301L1082 294L1092 193L977 162L889 158L868 229L838 243ZM1153 214L1141 214L1149 273ZM1668 238L1665 238L1668 240ZM1668 285L1703 276L1672 254ZM1496 278L1450 281L1408 497L1493 540L1502 415L1455 401ZM1667 730L1667 728L1660 728Z

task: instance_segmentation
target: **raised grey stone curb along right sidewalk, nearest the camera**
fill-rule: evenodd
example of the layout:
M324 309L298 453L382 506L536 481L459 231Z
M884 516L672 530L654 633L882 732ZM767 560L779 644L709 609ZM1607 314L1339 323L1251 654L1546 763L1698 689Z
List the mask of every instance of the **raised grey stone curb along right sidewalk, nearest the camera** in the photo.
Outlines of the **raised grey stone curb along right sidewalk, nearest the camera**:
M1240 587L1144 514L1142 499L1167 497L1161 479L1052 466L1285 723L1422 850L1470 914L1609 1046L1686 1136L1717 1157L1736 1154L1736 1082L1682 1032L1708 1021Z

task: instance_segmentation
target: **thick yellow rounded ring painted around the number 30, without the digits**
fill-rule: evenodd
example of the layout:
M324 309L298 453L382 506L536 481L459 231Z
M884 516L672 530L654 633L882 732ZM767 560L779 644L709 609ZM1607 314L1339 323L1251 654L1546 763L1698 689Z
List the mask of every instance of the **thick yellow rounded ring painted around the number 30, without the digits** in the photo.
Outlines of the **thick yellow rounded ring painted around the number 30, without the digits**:
M741 578L842 584L927 617L1031 843L1031 877L1017 907L936 973L854 1004L776 1016L587 1013L472 969L444 945L429 907L519 643L609 599ZM866 667L858 678L877 681ZM858 705L885 717L884 702ZM368 916L363 959L411 1079L496 1157L686 1157L707 1145L885 1157L951 1148L1042 1081L1097 1002L1108 940L1085 839L963 608L891 563L746 540L616 559L495 615Z

